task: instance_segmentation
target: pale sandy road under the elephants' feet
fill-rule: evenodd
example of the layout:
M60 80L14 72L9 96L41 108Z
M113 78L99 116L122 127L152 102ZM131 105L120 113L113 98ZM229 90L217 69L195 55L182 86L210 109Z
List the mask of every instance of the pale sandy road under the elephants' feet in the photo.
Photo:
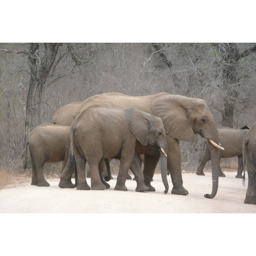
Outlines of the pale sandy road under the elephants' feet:
M155 192L135 192L134 180L126 181L127 192L115 191L116 176L109 181L111 188L104 191L61 189L59 179L49 179L49 187L31 186L27 180L0 190L0 213L256 213L256 205L244 204L248 180L243 186L242 179L235 178L236 172L224 173L212 199L204 197L212 192L211 173L183 173L183 186L189 191L186 196L171 194L169 176L169 192L163 194L159 174L151 183Z

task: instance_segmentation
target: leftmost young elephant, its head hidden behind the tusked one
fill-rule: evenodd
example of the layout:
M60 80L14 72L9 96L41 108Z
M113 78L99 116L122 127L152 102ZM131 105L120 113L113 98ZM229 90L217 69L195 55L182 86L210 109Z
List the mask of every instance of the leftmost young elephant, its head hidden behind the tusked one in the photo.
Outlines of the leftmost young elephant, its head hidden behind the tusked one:
M26 142L25 168L27 147L29 146L32 163L31 185L50 186L43 174L43 167L46 162L64 161L62 167L64 169L70 148L69 134L70 126L50 123L39 125L29 134Z

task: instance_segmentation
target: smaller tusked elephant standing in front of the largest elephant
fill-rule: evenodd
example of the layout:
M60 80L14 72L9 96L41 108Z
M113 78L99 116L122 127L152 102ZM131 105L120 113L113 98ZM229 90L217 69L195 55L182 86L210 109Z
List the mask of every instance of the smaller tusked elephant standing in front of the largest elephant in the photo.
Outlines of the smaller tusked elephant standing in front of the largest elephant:
M148 191L150 188L145 185L137 161L135 148L139 148L138 145L141 145L140 153L145 147L154 151L158 160L160 154L161 174L167 193L167 141L163 122L159 117L135 108L107 108L101 105L92 105L81 111L70 128L71 155L76 160L78 172L77 189L90 189L84 172L86 162L91 170L91 189L108 188L109 184L102 179L98 166L102 159L116 158L120 160L120 167L114 189L127 191L125 180L131 168L136 177L136 191ZM67 166L68 163L61 174L61 188L74 187L70 168Z

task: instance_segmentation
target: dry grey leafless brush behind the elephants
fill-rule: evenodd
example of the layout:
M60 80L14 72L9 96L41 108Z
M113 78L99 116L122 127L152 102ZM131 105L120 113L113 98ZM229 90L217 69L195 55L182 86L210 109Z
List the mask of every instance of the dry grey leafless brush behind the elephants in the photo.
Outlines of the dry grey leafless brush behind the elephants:
M37 55L42 58L44 44L39 46ZM30 44L0 44L0 49L13 52L29 47ZM253 47L255 44L60 44L42 90L38 125L50 122L63 105L95 94L142 96L166 92L204 99L217 126L230 121L227 113L232 114L229 126L250 126L256 121L256 53L252 51L244 57L241 53ZM230 64L233 49L240 57ZM224 55L225 51L230 55ZM232 74L228 79L227 70ZM23 170L29 81L28 56L0 51L0 187L14 182L19 175L31 175L31 166L26 172ZM233 108L232 113L227 106ZM194 143L180 141L183 170L195 172L202 144L200 136ZM58 175L60 166L46 164L46 177ZM115 172L117 163L113 166ZM236 169L237 160L222 160L221 167Z

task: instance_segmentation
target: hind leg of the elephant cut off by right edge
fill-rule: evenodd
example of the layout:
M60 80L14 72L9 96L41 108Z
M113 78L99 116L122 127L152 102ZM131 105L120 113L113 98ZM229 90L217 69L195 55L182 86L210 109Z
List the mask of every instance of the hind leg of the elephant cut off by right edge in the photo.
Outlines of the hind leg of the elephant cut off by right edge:
M244 204L256 204L256 173L254 172L255 166L247 161L247 173L248 173L248 187Z

